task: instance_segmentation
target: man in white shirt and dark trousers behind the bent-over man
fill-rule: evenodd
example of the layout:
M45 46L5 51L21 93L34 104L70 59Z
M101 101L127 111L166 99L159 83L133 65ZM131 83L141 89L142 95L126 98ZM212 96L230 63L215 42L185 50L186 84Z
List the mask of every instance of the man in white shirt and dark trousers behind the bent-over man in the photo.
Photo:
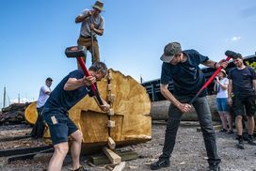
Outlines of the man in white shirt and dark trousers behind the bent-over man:
M44 132L44 123L43 123L43 118L42 118L42 109L44 103L48 100L50 93L51 93L51 88L50 86L53 83L53 79L51 77L48 77L45 80L45 85L42 85L40 87L40 96L37 101L37 111L38 111L38 118L37 121L32 129L31 136L34 138L40 138L43 135Z

